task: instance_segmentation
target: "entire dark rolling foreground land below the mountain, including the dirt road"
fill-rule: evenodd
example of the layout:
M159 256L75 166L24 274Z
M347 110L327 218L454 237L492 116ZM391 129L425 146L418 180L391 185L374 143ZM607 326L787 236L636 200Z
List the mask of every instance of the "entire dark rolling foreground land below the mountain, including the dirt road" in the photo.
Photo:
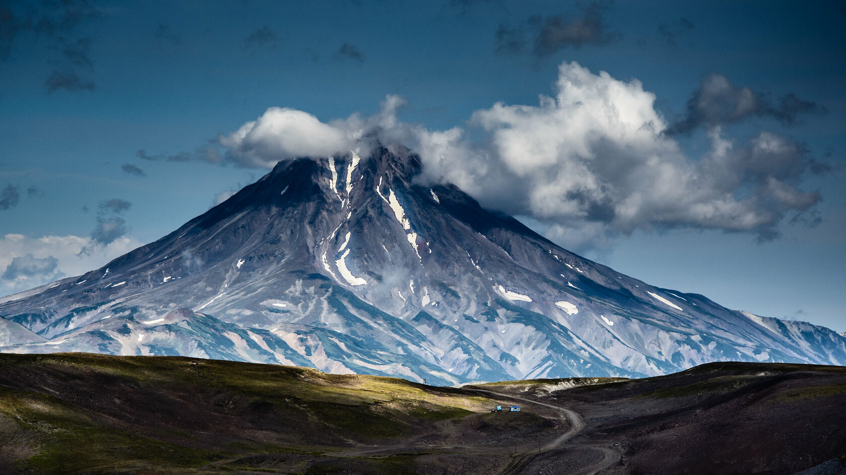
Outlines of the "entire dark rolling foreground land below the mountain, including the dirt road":
M181 357L0 355L8 474L846 472L846 368L464 386ZM516 405L520 412L491 412Z

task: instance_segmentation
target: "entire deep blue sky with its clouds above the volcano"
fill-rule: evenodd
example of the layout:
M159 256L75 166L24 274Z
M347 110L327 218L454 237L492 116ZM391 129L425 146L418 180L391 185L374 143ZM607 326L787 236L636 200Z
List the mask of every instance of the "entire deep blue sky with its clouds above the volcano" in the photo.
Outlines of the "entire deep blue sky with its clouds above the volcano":
M630 276L846 331L844 23L843 2L0 2L0 294L261 177L297 150L247 145L290 131L232 134L293 109L377 127Z

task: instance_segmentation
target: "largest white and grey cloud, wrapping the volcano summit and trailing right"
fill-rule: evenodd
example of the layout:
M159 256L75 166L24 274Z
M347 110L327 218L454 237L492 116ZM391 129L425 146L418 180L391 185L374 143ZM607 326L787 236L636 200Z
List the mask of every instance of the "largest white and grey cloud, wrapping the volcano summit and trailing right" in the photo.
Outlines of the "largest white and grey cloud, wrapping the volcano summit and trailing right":
M331 123L271 108L219 141L228 157L250 167L363 153L376 140L405 145L420 154L422 181L454 183L574 250L636 229L694 227L766 240L777 236L784 217L820 200L800 189L813 168L807 150L777 134L736 144L713 127L710 150L690 157L637 79L563 63L555 89L535 106L497 103L448 130L399 121L398 96L388 96L372 117Z

